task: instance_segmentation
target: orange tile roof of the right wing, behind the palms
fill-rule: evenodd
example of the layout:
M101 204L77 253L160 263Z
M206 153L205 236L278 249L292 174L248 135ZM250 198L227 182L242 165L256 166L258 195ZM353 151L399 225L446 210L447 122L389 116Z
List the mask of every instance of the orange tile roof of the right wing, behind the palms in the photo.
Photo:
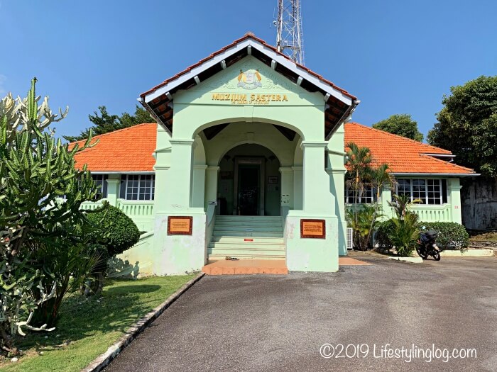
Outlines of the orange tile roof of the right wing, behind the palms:
M393 173L474 173L473 169L427 155L452 154L448 150L358 123L345 124L345 144L349 142L368 147L373 155L373 163L387 163Z

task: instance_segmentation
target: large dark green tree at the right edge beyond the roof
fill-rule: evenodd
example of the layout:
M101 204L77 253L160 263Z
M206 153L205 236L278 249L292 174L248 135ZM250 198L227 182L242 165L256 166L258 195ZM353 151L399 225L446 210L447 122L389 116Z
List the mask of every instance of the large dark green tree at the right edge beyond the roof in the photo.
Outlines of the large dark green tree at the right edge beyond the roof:
M481 76L450 90L428 142L497 181L497 76Z

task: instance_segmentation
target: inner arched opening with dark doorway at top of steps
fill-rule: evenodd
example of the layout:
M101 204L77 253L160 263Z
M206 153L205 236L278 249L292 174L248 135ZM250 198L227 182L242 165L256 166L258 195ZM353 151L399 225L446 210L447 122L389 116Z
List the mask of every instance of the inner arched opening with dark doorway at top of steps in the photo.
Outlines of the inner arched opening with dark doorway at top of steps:
M280 215L280 161L267 147L244 144L219 162L219 215Z

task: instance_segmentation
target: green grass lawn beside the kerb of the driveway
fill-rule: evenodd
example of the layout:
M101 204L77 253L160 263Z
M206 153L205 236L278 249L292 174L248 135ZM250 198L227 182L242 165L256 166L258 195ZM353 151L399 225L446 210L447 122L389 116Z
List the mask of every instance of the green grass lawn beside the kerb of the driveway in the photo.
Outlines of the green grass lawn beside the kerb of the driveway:
M0 363L1 371L80 371L116 342L126 329L196 274L109 281L101 298L79 295L62 306L60 321L52 332L19 337L25 352L19 361ZM46 337L46 338L45 338Z

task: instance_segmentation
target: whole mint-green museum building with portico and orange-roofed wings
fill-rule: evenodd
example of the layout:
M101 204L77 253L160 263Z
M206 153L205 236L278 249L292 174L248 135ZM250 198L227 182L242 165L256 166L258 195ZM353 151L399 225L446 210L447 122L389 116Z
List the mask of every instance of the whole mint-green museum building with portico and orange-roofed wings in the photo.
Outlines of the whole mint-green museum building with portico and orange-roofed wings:
M338 270L347 247L344 143L371 146L383 135L346 124L355 96L247 34L138 100L158 124L98 136L77 158L144 232L121 257L158 275L226 256ZM459 177L474 174L449 152L418 145L426 164L398 168L400 191L425 193L416 208L426 218L461 222Z

